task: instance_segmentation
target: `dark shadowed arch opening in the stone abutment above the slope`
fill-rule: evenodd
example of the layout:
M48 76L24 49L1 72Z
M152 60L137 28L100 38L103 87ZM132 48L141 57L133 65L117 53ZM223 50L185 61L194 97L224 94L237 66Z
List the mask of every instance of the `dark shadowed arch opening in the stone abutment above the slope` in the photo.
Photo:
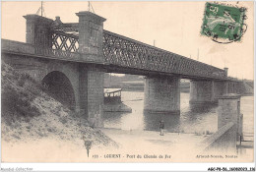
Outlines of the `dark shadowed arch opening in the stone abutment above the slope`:
M52 71L44 76L41 83L47 86L47 91L53 98L71 110L76 109L75 91L70 80L64 73Z

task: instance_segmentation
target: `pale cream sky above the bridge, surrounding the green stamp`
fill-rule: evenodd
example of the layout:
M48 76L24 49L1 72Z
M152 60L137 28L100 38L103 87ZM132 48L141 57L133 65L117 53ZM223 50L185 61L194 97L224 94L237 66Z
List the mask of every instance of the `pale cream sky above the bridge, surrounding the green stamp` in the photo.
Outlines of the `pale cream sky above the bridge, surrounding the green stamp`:
M218 68L228 68L228 76L252 80L254 77L254 4L227 2L246 7L248 29L239 42L220 44L200 33L206 2L99 2L92 1L97 15L106 19L104 29L142 41L173 53L191 57ZM43 3L47 18L59 16L63 23L78 23L76 13L88 10L88 2ZM2 38L26 41L26 20L40 2L2 2ZM198 57L199 54L199 57Z

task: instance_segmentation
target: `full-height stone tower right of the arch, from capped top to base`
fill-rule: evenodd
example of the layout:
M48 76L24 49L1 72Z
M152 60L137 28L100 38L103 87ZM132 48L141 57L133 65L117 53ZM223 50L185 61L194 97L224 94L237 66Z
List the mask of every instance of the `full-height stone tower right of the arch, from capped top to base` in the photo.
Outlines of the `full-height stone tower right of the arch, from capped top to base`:
M103 115L103 75L96 64L104 62L103 22L105 19L91 12L79 12L79 52L84 61L93 64L80 64L80 114L87 116L90 124L102 127Z

